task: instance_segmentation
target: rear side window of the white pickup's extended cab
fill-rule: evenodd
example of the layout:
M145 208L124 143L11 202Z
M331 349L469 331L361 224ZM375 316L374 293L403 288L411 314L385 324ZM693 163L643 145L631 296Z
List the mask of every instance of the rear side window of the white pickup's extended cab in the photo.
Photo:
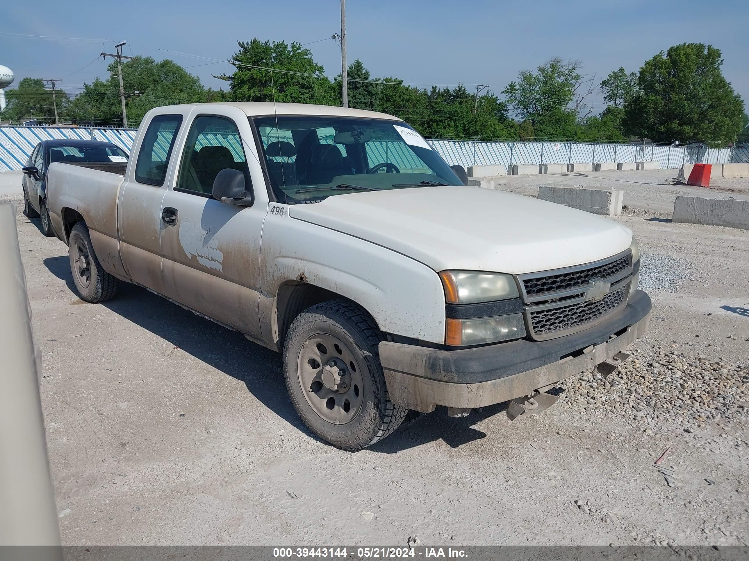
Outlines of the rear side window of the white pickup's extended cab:
M151 119L136 162L138 183L163 186L181 123L182 115L157 115Z

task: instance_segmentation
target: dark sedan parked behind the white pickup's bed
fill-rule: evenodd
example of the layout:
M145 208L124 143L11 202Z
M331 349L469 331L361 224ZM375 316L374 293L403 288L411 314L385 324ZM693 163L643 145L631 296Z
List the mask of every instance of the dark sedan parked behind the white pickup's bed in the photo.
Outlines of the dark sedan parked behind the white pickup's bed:
M28 218L41 217L42 233L54 236L46 208L45 180L47 168L54 162L85 165L92 168L123 168L127 153L111 142L69 140L41 141L23 168L24 214ZM115 171L112 169L111 171ZM116 171L115 171L116 173Z

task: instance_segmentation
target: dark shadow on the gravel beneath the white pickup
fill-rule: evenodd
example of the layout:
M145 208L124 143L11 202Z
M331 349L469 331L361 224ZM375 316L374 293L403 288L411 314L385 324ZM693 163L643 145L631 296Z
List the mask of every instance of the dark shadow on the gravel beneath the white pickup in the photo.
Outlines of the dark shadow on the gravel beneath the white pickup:
M67 255L47 257L43 263L52 275L65 282L70 295L76 297ZM74 300L71 304L79 302ZM100 305L168 341L167 351L179 347L210 367L242 381L253 396L283 420L310 438L329 445L309 432L294 410L283 381L279 353L134 284L120 283L117 296ZM471 425L505 409L506 405L493 405L457 419L446 417L444 409L440 411L440 408L418 417L412 414L415 419L407 420L404 426L369 450L396 453L437 440L455 448L484 438L486 434Z

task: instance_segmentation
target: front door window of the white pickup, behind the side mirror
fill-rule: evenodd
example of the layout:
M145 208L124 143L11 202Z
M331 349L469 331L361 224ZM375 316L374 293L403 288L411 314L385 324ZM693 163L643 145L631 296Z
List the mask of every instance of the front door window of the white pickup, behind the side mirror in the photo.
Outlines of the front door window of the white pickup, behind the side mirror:
M236 123L226 117L195 117L187 134L176 191L210 197L213 180L223 169L248 175L247 159Z

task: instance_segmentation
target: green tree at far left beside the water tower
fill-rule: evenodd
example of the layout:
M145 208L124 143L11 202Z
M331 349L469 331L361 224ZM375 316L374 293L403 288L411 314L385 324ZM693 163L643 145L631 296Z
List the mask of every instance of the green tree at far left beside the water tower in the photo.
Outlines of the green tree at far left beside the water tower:
M2 118L13 122L36 119L40 123L55 122L55 102L57 103L58 119L66 117L70 99L62 90L55 90L52 100L52 90L44 86L43 80L24 78L18 83L18 88L6 90L7 105L2 112Z

